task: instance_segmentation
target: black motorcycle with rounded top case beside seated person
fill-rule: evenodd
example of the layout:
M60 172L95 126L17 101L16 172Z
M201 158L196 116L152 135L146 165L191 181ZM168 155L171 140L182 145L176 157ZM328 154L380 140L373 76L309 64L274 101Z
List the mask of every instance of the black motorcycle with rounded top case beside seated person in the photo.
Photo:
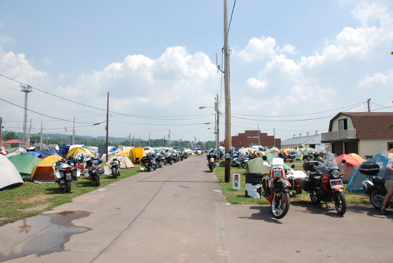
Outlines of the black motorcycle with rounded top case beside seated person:
M367 180L362 182L362 188L370 196L371 205L378 210L384 204L384 197L387 194L385 179L377 175L379 169L379 165L374 160L369 160L359 166L359 172L367 175ZM393 195L387 200L386 207L389 205L393 208Z

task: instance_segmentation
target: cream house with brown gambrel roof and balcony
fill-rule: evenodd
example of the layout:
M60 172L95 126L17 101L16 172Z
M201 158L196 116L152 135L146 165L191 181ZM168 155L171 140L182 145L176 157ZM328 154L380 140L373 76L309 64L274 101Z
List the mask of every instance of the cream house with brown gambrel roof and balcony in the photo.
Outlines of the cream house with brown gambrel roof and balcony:
M340 112L330 120L321 142L331 144L337 155L356 153L362 157L393 148L393 112Z

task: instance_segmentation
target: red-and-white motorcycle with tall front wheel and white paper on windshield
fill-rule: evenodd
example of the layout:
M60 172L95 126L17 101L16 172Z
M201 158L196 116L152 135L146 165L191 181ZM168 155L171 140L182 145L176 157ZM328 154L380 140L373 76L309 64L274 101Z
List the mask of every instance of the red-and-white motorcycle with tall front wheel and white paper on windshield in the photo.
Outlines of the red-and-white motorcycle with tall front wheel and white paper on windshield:
M264 160L262 166L270 169L270 173L262 179L263 193L262 195L270 202L270 210L276 219L283 218L288 213L290 206L290 197L293 193L289 190L295 190L297 183L296 177L287 177L293 174L293 170L285 169L284 160L281 158L273 158L272 163L267 161L266 156L262 156ZM292 164L291 168L295 167Z

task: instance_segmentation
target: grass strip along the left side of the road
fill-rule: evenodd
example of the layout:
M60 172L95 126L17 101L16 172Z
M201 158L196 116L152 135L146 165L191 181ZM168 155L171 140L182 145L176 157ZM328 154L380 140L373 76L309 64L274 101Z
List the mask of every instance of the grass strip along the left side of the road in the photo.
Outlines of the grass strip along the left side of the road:
M70 203L73 197L138 174L141 172L140 167L139 164L135 164L135 168L121 169L121 175L117 179L113 179L112 175L104 175L98 187L93 181L81 175L77 181L73 182L69 193L60 191L57 183L36 184L33 182L24 182L22 186L0 192L0 226L25 217L36 216L42 211L51 210L64 203Z

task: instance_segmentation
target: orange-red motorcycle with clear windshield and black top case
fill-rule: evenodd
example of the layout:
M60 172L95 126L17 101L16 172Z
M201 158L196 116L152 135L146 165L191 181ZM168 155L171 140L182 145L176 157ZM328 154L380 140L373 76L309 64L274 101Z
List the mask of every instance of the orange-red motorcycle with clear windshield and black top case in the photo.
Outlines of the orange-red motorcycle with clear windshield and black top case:
M327 206L327 202L332 202L341 216L347 210L341 179L347 166L343 163L338 161L335 153L324 155L322 161L305 161L303 169L307 174L300 179L300 187L310 194L313 205L320 207L322 201Z

